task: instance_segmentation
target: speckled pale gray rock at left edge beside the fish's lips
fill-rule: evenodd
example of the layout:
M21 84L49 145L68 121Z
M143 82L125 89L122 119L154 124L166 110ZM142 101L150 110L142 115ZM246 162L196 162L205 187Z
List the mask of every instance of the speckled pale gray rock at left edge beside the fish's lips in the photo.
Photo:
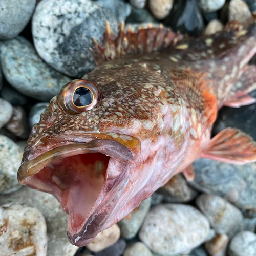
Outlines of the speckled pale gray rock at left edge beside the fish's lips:
M0 135L0 194L8 194L22 187L17 181L22 154L12 140Z

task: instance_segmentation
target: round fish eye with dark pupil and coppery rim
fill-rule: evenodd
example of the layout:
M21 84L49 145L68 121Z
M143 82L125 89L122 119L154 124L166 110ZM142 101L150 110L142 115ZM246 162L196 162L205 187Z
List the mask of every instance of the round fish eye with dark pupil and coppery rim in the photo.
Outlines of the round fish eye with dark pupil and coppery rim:
M101 100L99 89L90 81L76 79L62 87L57 102L69 114L93 109Z

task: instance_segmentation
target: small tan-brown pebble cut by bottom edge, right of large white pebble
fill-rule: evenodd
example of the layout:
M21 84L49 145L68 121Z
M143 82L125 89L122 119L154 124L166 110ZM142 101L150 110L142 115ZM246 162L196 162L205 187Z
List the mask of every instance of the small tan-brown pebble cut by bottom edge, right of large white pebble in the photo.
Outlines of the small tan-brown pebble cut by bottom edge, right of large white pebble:
M217 234L212 240L206 242L204 247L209 256L225 256L228 242L227 234Z

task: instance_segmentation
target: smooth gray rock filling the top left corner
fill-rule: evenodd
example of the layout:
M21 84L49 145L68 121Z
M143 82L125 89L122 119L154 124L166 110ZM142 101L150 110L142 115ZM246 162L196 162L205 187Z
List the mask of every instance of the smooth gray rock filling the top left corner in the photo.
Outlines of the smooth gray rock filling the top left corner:
M28 24L35 0L1 0L0 40L16 37Z

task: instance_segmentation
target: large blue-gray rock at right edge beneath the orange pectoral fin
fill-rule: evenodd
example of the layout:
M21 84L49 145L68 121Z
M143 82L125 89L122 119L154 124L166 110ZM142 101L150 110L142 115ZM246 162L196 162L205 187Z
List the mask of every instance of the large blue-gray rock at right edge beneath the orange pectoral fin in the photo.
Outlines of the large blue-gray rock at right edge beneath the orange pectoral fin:
M246 217L256 212L256 164L242 166L200 158L193 163L196 189L216 194L242 209Z

